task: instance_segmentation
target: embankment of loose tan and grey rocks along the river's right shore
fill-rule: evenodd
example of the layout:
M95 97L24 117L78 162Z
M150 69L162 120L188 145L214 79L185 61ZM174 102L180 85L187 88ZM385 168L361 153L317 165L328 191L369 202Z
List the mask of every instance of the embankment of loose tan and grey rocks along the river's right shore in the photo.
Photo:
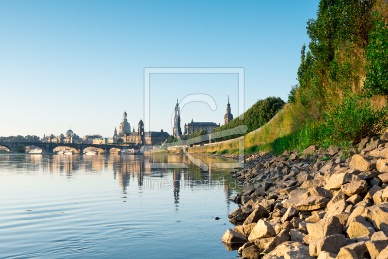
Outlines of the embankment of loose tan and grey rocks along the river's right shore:
M246 158L226 247L249 259L388 259L388 133L346 152Z

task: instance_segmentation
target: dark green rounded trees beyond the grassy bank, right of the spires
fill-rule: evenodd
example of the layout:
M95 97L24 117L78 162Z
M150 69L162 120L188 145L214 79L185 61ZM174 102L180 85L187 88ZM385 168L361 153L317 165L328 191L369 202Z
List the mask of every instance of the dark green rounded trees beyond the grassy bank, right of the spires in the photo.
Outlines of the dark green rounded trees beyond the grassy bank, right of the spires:
M244 134L233 134L231 136L217 138L217 135L221 136L221 134L217 134L217 132L234 129L239 125L246 125L248 127L248 131L246 133L254 131L271 120L284 104L284 101L279 97L268 97L264 100L259 100L256 104L253 104L252 107L243 113L242 120L240 120L240 117L237 117L233 121L230 121L229 123L226 123L219 128L215 128L211 134L211 138L213 141L223 141L232 138L238 138ZM233 132L234 131L232 130L232 133ZM239 131L237 130L236 133L237 132Z

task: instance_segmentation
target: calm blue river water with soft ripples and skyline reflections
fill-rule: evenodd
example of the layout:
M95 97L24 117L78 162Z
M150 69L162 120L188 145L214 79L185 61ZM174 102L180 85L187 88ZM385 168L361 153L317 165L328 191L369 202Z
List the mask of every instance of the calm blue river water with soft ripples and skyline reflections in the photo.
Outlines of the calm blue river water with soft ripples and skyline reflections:
M237 164L196 158L1 154L0 258L235 258Z

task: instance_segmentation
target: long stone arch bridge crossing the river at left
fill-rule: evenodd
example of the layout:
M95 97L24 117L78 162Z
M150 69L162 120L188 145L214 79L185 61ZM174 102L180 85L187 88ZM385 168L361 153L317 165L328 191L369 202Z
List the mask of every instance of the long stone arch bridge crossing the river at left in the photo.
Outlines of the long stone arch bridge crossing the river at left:
M88 147L93 147L98 150L98 154L111 153L113 148L115 149L140 149L138 145L97 145L86 143L45 143L45 142L3 142L0 146L8 148L10 151L16 151L17 145L35 146L42 149L42 153L53 153L53 149L56 147L67 147L73 150L74 153L83 154L83 150Z

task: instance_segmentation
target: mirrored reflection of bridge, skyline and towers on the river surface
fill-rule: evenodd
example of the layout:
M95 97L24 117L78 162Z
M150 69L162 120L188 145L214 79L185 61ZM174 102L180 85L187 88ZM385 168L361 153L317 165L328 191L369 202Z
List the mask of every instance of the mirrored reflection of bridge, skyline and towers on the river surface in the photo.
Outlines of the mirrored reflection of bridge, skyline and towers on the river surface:
M113 173L122 194L127 194L130 181L137 182L139 190L171 189L178 208L179 191L224 189L226 202L236 182L230 170L217 169L215 163L225 162L219 157L197 156L207 164L209 171L195 166L186 156L178 155L0 155L1 167L13 167L15 173L43 172L69 178L78 174ZM171 166L172 165L172 166ZM215 173L214 173L215 172ZM163 186L164 182L164 186ZM233 188L231 188L231 186ZM235 190L238 191L238 190Z

